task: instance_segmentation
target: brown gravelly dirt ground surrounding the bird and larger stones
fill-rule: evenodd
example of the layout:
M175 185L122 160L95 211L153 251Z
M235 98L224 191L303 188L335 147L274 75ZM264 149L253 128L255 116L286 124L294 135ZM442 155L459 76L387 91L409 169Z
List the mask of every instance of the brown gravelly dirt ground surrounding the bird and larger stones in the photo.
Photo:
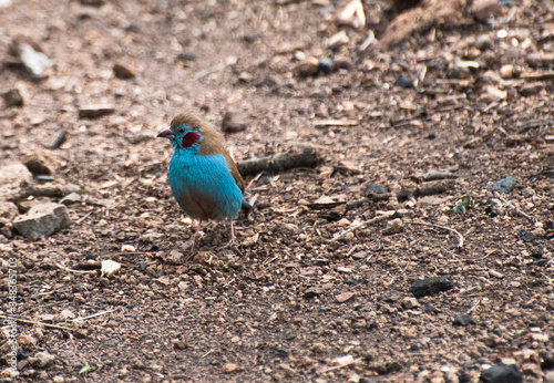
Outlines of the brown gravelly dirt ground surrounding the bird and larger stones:
M0 110L0 165L39 156L53 179L35 184L81 190L69 228L0 227L27 321L3 381L476 382L501 361L554 381L552 2L502 2L489 22L463 10L390 45L386 2L363 1L366 25L338 21L347 1L94 3L0 8L2 93L24 95ZM10 49L19 35L50 59L40 79ZM237 161L321 156L245 177L255 208L236 248L208 222L188 251L155 138L185 110L245 121L225 135ZM121 269L102 276L104 260ZM450 289L414 296L441 276Z

